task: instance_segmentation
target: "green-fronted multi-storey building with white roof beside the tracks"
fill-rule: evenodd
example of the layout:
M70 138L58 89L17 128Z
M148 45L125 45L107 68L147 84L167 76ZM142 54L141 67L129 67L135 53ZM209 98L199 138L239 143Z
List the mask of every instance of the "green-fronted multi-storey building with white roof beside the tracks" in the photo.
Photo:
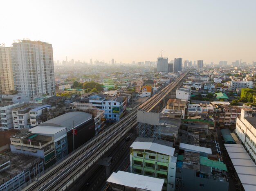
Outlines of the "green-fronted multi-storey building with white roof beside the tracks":
M177 157L172 146L156 138L137 138L130 146L130 172L164 179L163 191L175 190Z

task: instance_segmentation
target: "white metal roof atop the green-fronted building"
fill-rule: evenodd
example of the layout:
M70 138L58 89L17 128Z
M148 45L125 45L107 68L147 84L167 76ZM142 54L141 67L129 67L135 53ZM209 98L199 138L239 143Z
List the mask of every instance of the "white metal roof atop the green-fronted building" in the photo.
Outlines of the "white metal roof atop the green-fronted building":
M168 147L166 145L161 145L152 142L140 142L135 141L130 146L133 149L146 149L150 151L155 151L157 153L166 154L168 156L173 156L175 149L173 147Z

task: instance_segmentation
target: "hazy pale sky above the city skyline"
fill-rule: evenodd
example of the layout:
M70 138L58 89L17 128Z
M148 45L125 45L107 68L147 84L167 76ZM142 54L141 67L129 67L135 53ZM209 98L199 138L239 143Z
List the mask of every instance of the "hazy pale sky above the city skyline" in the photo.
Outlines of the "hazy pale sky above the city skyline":
M256 61L256 0L2 0L0 44L49 42L54 60Z

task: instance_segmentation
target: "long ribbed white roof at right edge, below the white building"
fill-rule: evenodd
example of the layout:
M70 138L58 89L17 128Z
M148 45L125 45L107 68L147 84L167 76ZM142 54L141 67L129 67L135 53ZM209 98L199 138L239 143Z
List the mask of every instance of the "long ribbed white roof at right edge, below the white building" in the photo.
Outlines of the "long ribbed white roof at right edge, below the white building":
M240 144L224 144L245 191L256 190L256 165Z

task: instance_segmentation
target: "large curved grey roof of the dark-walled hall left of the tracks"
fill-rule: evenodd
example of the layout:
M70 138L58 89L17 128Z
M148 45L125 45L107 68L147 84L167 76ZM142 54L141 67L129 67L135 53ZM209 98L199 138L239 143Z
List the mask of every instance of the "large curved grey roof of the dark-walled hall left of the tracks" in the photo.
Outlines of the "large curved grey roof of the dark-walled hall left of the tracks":
M73 121L74 127L77 127L90 119L92 119L91 114L85 112L69 112L45 121L44 123L40 123L38 126L67 127L68 131L73 128Z

